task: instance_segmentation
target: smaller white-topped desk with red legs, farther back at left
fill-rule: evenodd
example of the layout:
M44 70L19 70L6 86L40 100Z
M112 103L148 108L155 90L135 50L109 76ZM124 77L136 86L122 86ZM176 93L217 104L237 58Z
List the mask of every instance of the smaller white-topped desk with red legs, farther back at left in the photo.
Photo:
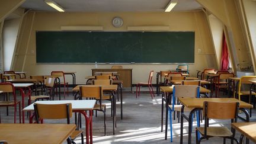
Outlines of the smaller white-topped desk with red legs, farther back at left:
M24 98L28 97L28 104L31 103L31 89L30 87L34 84L30 84L30 83L26 83L26 84L19 84L19 83L15 83L13 84L15 89L19 89L21 92L21 108L24 108L25 103L24 103ZM26 91L28 89L28 93L26 94L24 91ZM22 117L23 117L23 123L25 123L25 116L24 116L24 111L22 113Z

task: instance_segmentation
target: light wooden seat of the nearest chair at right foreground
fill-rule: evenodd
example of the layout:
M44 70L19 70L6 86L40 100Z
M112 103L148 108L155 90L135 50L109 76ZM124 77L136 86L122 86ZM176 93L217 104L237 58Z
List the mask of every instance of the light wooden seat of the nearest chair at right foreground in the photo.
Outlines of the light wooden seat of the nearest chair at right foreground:
M201 135L204 135L204 127L196 127L196 129L201 133ZM228 129L228 127L207 127L207 136L232 136L233 133L231 130Z

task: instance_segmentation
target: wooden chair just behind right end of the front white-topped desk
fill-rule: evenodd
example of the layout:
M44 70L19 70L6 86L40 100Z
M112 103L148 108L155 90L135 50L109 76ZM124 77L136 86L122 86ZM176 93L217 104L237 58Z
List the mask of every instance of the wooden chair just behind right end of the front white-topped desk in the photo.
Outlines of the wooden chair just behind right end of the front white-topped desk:
M105 119L105 108L106 105L102 104L101 100L103 98L103 90L101 86L94 85L83 85L79 87L80 89L80 99L82 98L94 98L98 100L100 104L95 104L94 110L102 111L104 114L104 134L106 136L106 119Z

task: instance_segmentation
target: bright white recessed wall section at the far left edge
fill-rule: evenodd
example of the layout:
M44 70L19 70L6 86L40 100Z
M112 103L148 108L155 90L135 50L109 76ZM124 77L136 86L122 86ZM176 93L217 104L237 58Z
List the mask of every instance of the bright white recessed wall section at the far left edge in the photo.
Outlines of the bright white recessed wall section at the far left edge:
M4 22L3 28L3 47L4 47L4 70L11 69L12 56L14 55L14 48L20 25L20 18L7 20Z

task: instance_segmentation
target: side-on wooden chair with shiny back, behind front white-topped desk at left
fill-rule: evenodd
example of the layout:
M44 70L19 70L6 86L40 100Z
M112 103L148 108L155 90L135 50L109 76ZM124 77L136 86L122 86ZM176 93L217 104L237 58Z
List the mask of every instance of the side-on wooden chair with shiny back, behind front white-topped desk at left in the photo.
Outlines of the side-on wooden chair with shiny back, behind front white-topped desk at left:
M36 96L31 96L31 101L37 101L37 100L42 100L42 99L47 99L50 100L51 98L54 97L55 94L55 78L46 78L44 81L45 85L45 94L44 95L36 95ZM49 91L49 95L48 94ZM53 98L54 99L54 98Z

